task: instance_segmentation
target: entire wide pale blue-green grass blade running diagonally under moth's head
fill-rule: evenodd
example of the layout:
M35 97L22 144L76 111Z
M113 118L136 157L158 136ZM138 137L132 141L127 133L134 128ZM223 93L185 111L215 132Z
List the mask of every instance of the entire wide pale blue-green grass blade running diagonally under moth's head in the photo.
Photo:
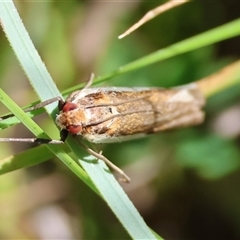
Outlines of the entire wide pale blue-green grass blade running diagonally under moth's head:
M38 92L41 100L46 100L55 96L59 96L60 94L56 89L55 84L53 84L49 73L47 72L45 66L39 58L37 51L35 50L11 1L0 2L0 15L5 33L24 71L29 77L29 80L32 82L35 91ZM13 111L12 109L10 110ZM52 110L53 107L48 107L49 112L51 112ZM15 112L13 113L15 114ZM77 143L75 141L71 141L71 139L69 140L69 143L74 152L76 151L75 154L77 155L77 157L82 157L80 156L80 154L82 154L82 151L79 150L79 146L77 145ZM71 164L74 164L75 162L66 162L65 157L67 157L68 155L62 150L61 146L51 145L49 146L49 149L55 152L55 154L61 160L63 160L64 163L68 165L68 167L72 171L74 171ZM155 236L146 226L141 216L132 205L131 201L123 192L122 188L115 181L113 175L107 174L108 177L106 177L106 173L102 170L103 168L106 168L105 164L99 161L98 164L94 165L96 167L93 167L93 164L86 163L83 160L79 159L79 162L83 164L85 170L87 171L91 179L94 181L95 186L97 186L100 194L107 201L108 205L116 214L117 218L128 231L130 236L134 239L155 239ZM94 169L94 171L90 171L90 169L92 168ZM78 169L81 168L78 166ZM94 176L96 173L98 174L97 179ZM87 180L87 178L85 180ZM112 187L113 183L114 187ZM116 199L114 196L118 196L118 198ZM119 208L118 206L121 206L121 208ZM130 222L132 224L129 225Z

